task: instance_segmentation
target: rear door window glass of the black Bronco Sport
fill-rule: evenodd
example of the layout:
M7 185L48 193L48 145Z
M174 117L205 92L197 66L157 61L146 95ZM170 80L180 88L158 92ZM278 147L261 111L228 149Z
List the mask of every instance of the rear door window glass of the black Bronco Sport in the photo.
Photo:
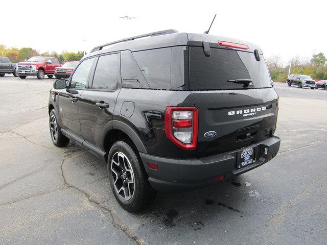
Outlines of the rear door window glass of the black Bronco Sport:
M100 56L92 88L116 89L120 82L120 54Z

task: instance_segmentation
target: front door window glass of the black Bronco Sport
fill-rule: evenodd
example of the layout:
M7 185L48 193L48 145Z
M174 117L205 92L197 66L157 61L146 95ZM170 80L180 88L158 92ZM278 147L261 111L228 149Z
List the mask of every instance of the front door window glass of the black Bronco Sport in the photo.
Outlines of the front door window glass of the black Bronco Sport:
M85 88L88 75L90 73L92 64L95 58L87 59L82 61L80 65L76 68L72 81L71 81L71 88Z

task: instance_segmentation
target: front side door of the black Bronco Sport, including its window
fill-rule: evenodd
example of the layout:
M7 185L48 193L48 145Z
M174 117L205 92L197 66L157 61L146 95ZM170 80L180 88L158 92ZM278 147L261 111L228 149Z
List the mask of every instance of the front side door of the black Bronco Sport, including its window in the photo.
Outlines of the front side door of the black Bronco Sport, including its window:
M79 100L85 91L95 57L83 60L68 80L68 88L59 92L59 117L65 129L81 135Z

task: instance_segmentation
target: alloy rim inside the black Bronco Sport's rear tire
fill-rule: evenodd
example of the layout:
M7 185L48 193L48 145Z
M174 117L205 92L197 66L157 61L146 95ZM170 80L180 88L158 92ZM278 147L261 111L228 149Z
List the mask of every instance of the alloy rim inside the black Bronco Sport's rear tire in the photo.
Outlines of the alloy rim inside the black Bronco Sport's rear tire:
M113 178L113 186L118 195L125 201L129 201L134 195L134 172L130 161L122 152L116 152L111 159L110 172Z

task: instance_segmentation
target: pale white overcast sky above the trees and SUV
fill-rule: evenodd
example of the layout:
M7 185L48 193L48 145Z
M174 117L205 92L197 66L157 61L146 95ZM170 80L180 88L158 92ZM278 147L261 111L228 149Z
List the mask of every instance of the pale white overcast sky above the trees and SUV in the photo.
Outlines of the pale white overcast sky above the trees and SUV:
M1 1L0 44L87 53L102 43L165 29L258 44L266 57L327 55L325 1ZM121 16L136 19L121 19Z

